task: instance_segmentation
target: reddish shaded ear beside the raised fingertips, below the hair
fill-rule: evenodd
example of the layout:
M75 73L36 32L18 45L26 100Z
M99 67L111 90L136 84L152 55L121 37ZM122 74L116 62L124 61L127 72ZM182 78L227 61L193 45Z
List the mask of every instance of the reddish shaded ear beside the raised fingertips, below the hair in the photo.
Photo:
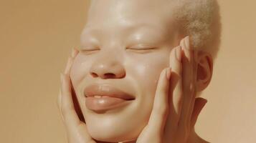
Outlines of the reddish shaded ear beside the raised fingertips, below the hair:
M198 51L196 55L196 89L202 92L212 79L213 60L207 51Z

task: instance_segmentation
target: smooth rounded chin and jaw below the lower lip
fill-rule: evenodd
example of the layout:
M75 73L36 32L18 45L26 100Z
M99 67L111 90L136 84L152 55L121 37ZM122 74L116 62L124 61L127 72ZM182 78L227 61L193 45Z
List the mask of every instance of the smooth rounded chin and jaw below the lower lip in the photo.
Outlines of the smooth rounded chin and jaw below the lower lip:
M143 112L141 112L143 111ZM136 140L148 124L151 108L141 102L98 113L85 109L84 117L90 137L101 142Z

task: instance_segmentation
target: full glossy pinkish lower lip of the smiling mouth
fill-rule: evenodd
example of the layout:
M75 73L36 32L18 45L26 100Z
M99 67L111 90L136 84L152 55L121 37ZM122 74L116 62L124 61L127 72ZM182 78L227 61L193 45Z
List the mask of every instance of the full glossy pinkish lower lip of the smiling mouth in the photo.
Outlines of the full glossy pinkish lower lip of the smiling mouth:
M117 107L121 107L125 103L131 102L132 100L125 100L115 97L86 97L85 105L88 109L92 109L95 111L106 110L106 109L114 109Z

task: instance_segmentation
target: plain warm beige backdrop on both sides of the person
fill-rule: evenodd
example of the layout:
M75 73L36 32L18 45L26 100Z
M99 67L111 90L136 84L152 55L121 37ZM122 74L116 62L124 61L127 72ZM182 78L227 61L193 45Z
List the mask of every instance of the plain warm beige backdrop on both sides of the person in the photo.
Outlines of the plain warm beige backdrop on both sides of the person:
M256 2L219 4L222 45L196 131L211 142L256 142ZM0 142L66 142L56 98L60 72L79 45L87 5L1 0Z

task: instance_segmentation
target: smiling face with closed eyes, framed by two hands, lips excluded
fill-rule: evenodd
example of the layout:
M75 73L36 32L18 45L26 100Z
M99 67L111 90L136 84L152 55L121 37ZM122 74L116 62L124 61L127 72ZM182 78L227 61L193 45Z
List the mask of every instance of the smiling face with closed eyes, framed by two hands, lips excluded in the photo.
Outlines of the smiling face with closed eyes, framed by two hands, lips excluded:
M71 79L94 139L135 139L148 123L158 77L182 37L170 7L156 0L92 1ZM91 85L115 87L134 99L96 111L85 104L85 90Z

